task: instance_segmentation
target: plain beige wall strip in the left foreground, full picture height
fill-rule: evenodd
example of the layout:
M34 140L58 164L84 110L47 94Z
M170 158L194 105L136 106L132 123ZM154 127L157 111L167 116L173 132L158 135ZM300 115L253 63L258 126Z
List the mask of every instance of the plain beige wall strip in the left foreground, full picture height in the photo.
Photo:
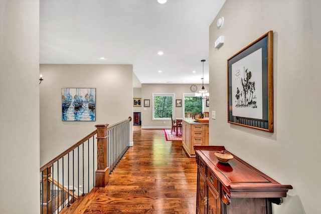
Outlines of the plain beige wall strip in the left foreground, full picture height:
M39 0L0 1L0 213L39 213Z

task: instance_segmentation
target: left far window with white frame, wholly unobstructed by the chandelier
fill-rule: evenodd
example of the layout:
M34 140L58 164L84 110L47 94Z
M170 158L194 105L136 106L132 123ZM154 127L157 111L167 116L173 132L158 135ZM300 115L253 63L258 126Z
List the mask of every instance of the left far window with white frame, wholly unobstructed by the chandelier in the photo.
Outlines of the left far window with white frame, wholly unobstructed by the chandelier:
M153 93L153 120L171 120L174 93Z

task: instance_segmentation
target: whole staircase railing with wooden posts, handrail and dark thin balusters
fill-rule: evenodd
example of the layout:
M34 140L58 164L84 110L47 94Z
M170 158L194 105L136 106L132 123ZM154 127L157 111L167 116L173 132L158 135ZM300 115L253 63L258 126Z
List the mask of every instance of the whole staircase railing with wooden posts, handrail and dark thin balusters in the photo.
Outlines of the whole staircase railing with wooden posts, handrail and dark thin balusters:
M40 168L40 212L59 213L109 174L129 148L130 121L96 125L96 130ZM96 161L96 164L95 164Z

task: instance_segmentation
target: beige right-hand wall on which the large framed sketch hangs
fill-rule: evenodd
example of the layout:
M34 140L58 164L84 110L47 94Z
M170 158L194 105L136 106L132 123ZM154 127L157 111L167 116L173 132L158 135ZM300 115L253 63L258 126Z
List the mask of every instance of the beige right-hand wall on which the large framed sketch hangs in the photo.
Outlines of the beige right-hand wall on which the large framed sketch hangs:
M224 145L282 184L291 184L273 213L321 213L321 1L227 0L210 26L210 145ZM221 29L218 18L224 17ZM227 123L226 60L274 32L274 133ZM214 49L214 41L225 44Z

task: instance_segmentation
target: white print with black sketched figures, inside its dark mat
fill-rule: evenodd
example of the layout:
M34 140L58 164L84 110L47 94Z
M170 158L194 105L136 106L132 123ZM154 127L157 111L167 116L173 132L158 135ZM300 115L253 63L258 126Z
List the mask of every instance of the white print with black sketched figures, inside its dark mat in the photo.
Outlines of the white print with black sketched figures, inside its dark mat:
M262 119L262 48L232 64L233 116Z

